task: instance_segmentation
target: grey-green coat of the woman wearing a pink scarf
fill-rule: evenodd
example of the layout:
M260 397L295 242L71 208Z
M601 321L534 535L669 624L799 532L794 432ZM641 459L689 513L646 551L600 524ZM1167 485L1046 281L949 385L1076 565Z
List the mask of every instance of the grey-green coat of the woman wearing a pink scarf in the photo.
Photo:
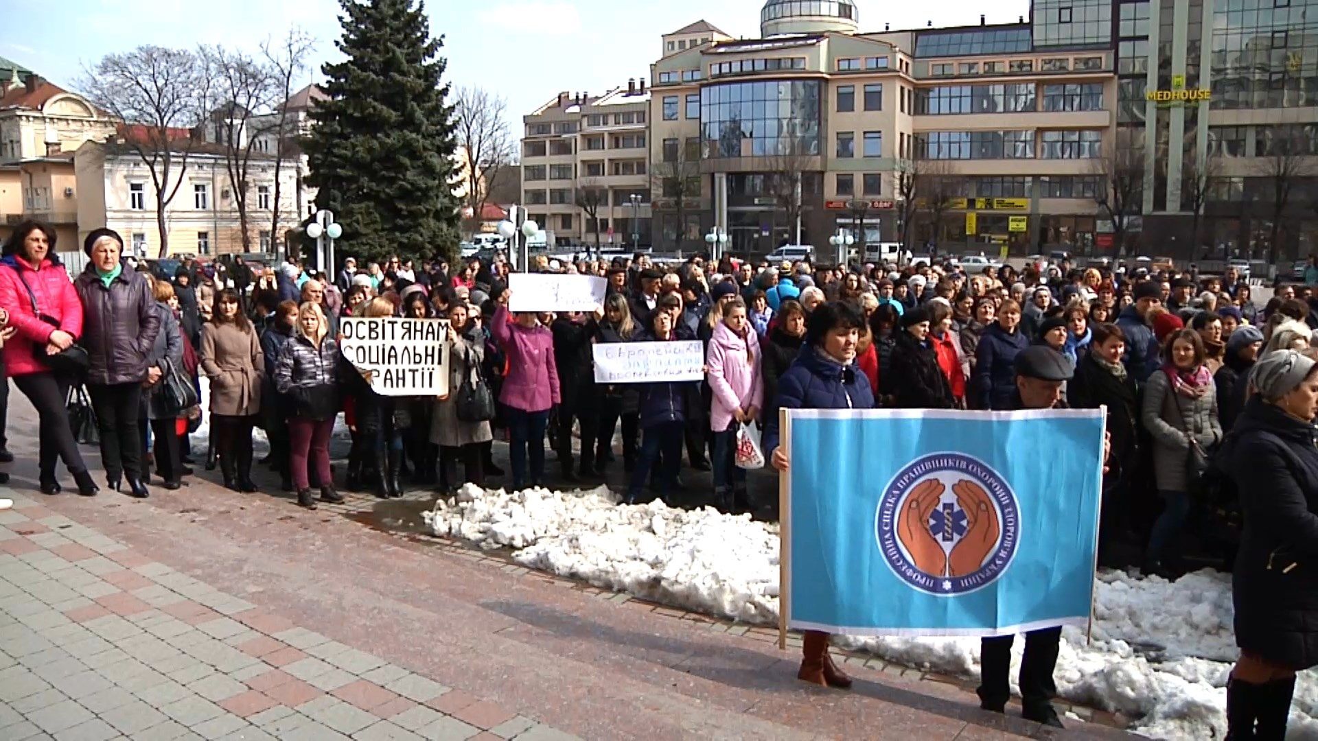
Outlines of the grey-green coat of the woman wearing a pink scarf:
M1222 440L1218 423L1218 394L1210 382L1199 398L1186 398L1172 389L1166 373L1159 370L1144 385L1141 407L1144 429L1153 438L1153 475L1160 492L1189 489L1186 458L1190 435L1207 455Z

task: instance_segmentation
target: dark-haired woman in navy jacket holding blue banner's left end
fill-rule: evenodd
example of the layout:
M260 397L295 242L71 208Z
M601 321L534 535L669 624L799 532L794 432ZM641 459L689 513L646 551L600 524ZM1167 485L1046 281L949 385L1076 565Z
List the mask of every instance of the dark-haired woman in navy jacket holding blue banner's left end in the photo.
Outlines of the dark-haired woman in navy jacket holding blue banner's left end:
M855 345L865 319L841 302L825 303L816 309L805 328L805 347L796 363L779 380L776 406L779 409L870 409L874 394L870 381L854 364ZM786 473L789 451L778 444L778 415L766 419L764 455L774 468ZM851 678L842 672L828 653L829 634L807 630L801 643L801 668L797 679L825 687L851 686Z

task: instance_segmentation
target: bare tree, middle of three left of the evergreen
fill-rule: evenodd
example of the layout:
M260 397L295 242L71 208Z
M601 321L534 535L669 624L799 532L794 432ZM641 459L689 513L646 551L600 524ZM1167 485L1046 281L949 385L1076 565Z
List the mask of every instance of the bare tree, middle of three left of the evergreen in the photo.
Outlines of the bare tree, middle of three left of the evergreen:
M198 50L198 59L215 80L215 98L220 105L211 112L208 125L214 127L216 142L223 148L224 169L239 211L243 252L252 252L248 199L253 167L264 160L261 149L269 144L266 134L277 125L270 116L277 82L270 67L244 51L208 46ZM278 142L274 149L278 153Z

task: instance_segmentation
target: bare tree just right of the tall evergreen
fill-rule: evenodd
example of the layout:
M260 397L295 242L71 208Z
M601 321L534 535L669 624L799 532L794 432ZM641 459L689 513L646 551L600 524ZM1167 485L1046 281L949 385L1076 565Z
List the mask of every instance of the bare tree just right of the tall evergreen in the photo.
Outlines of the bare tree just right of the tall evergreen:
M500 170L517 160L517 145L507 125L507 103L480 87L457 90L453 112L457 149L467 158L463 185L467 190L465 206L480 223L481 211L489 202L490 183Z

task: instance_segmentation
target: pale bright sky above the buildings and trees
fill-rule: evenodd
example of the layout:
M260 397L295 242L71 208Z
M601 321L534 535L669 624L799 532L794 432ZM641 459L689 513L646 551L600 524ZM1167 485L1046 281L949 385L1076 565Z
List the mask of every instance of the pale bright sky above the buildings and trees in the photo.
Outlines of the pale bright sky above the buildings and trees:
M431 32L445 36L448 79L497 91L514 131L558 91L604 92L648 78L659 36L706 20L738 37L759 36L760 0L430 0ZM1011 22L1028 0L857 0L861 30ZM74 87L101 55L142 44L224 44L256 51L261 40L302 26L316 42L312 76L333 58L336 0L0 0L0 57Z

